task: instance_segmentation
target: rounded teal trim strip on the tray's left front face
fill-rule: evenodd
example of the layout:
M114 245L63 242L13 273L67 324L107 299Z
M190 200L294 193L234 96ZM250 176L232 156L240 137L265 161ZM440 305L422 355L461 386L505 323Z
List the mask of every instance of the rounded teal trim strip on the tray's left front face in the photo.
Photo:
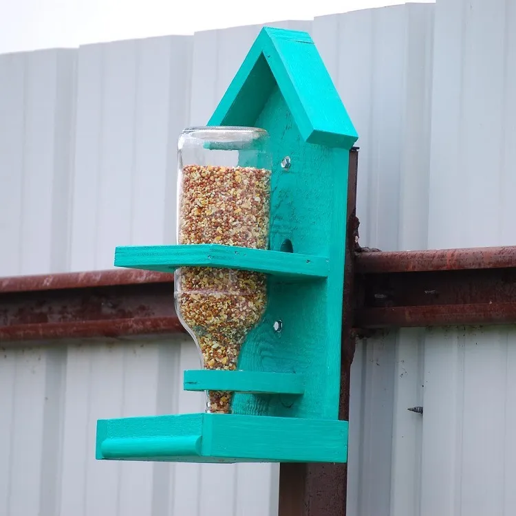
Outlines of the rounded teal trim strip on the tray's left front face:
M106 459L199 456L201 436L106 439L100 444L100 453Z

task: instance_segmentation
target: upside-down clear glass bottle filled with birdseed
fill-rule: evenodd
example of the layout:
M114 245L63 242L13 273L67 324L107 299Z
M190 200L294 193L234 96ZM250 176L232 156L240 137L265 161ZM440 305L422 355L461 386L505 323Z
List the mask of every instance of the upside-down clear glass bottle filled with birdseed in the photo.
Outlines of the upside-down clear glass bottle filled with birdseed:
M252 127L193 127L178 142L178 244L266 249L269 136ZM241 345L264 315L266 276L221 268L175 272L175 308L206 369L237 369ZM208 391L206 411L230 413L232 394Z

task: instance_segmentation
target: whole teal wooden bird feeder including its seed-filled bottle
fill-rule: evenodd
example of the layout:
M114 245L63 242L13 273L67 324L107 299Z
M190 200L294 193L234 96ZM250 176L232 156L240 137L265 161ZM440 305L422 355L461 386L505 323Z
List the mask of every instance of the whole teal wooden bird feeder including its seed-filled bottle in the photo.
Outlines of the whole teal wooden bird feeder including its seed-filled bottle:
M175 271L204 413L99 420L96 458L345 462L338 420L347 169L356 131L308 34L264 28L206 127L179 142Z

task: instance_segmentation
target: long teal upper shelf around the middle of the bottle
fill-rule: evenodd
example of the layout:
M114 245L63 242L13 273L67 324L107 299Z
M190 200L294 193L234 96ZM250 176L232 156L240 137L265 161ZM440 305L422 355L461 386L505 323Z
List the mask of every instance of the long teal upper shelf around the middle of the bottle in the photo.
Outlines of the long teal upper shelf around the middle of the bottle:
M123 246L115 253L117 267L173 272L186 266L221 267L265 272L284 278L324 278L326 257L244 247L198 244L188 246Z

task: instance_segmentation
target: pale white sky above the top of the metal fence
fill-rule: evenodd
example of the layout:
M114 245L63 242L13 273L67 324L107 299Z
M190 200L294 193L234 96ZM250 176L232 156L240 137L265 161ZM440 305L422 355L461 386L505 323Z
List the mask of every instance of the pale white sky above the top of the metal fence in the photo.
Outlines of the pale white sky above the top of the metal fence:
M412 0L415 2L431 0ZM281 20L403 0L0 0L0 54Z

